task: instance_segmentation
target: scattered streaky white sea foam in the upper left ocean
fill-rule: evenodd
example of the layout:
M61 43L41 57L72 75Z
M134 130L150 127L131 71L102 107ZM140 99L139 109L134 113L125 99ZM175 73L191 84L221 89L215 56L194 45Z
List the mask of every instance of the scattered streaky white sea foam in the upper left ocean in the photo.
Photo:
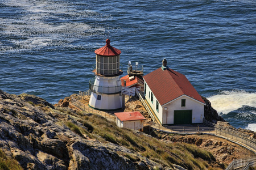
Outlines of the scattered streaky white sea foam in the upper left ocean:
M105 32L105 28L95 28L94 25L81 21L75 22L88 17L102 20L102 16L92 10L77 10L68 2L10 0L3 1L3 4L18 7L22 11L22 15L17 18L0 18L3 35L13 37L11 42L18 46L14 50L65 46L82 37ZM0 47L0 51L10 49L4 45Z

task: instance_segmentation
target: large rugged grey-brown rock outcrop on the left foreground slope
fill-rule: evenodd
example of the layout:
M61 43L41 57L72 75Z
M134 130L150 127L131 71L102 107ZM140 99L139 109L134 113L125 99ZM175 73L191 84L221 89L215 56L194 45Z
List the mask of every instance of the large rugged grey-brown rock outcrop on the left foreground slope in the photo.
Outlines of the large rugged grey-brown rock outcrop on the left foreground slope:
M0 90L0 148L24 169L137 169L140 164L146 169L162 167L128 148L73 132L65 124L79 124L72 114L75 111L54 107L34 95L16 96ZM143 161L134 163L122 156L130 153Z

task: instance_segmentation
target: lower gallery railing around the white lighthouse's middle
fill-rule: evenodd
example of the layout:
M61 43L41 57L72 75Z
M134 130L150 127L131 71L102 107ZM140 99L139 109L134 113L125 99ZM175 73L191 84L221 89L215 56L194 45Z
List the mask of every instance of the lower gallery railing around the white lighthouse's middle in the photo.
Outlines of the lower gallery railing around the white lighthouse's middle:
M122 90L122 86L114 86L114 87L105 87L105 86L96 86L94 85L95 78L89 80L89 89L92 92L99 94L120 94Z

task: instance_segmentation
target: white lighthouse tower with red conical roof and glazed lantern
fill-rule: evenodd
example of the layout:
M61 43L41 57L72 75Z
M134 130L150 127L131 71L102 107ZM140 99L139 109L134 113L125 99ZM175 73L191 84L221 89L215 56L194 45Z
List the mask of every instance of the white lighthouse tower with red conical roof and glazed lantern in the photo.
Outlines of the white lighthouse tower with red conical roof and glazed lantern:
M106 45L95 50L95 53L96 68L93 72L96 76L89 82L92 91L89 106L102 111L121 109L124 105L119 78L123 74L119 68L121 50L111 46L107 39Z

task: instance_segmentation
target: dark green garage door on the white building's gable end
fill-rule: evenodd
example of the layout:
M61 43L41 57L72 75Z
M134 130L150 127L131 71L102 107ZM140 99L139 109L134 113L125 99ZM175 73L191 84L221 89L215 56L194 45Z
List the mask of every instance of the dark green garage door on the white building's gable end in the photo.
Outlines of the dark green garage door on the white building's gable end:
M192 110L174 111L174 124L192 124Z

